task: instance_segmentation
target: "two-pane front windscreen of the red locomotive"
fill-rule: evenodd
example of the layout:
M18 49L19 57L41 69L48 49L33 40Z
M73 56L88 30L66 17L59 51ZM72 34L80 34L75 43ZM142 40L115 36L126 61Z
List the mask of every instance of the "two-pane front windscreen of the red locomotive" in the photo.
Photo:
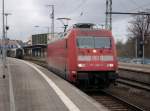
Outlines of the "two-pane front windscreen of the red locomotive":
M80 36L77 38L79 48L111 48L111 38Z

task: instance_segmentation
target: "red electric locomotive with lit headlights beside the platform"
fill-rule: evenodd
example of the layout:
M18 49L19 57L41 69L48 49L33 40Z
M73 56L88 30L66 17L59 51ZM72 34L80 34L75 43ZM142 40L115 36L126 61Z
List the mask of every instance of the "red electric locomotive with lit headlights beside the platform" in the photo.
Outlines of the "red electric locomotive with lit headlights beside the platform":
M47 47L51 71L74 84L109 87L118 78L112 32L92 23L74 24Z

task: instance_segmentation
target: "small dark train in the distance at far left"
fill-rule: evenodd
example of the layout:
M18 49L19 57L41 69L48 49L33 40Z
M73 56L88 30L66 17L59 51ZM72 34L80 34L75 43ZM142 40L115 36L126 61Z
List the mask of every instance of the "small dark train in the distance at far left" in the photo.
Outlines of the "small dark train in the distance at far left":
M23 59L24 58L24 49L23 48L12 48L7 50L7 56Z

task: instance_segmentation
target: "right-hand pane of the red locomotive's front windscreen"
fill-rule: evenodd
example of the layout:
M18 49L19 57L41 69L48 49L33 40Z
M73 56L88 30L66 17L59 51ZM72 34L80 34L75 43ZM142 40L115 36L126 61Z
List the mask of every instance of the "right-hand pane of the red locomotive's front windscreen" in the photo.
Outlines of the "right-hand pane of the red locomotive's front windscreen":
M111 48L111 39L106 37L94 37L95 48Z

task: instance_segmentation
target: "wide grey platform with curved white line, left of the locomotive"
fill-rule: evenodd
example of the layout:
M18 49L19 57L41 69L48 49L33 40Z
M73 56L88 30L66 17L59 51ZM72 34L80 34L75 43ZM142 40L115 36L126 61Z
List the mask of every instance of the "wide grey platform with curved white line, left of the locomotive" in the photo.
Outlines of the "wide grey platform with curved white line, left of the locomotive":
M108 111L107 108L47 69L7 59L5 78L0 60L0 111Z

